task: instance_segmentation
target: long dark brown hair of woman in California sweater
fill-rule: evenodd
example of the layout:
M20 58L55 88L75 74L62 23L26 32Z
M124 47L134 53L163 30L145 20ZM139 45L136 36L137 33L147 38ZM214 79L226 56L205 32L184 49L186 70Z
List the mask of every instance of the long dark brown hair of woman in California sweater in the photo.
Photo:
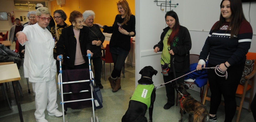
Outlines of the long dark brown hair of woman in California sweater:
M225 0L222 0L220 3L220 8L222 6L222 3ZM242 20L245 19L245 15L243 14L243 8L242 8L242 2L240 0L228 0L230 2L230 9L231 9L231 16L230 16L230 22L229 22L229 29L230 30L230 38L237 36L238 31L240 29ZM220 12L220 19L219 22L213 27L212 30L218 30L223 24L225 23L225 18L222 16ZM229 30L227 29L227 31Z

